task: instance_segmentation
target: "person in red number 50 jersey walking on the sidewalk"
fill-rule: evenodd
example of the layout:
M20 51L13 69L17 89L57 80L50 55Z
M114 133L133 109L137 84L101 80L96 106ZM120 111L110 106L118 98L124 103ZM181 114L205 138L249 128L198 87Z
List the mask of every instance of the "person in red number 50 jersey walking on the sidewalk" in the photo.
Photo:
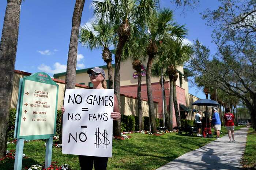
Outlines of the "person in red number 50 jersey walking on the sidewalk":
M234 120L235 120L235 116L230 113L230 108L225 108L225 114L224 114L224 119L225 119L225 125L227 128L227 131L229 133L229 143L231 143L231 135L233 138L233 143L235 143L235 135L234 135L234 130L235 130L235 124L234 124Z

